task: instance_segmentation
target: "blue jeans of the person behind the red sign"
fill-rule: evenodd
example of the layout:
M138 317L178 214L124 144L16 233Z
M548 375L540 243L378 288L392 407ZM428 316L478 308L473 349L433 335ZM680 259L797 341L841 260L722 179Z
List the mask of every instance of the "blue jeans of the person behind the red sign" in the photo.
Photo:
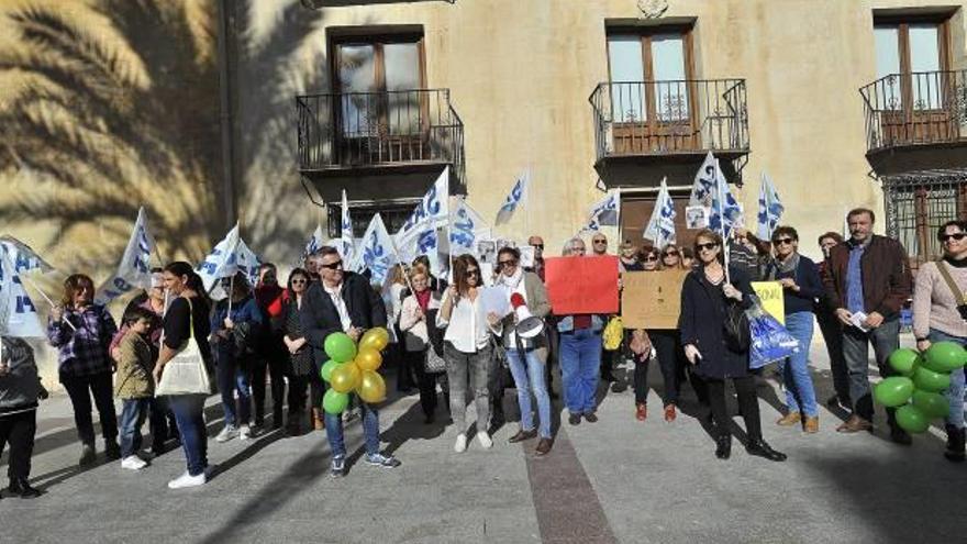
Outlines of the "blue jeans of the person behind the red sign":
M589 329L562 333L559 362L567 410L570 413L593 412L601 366L601 334Z

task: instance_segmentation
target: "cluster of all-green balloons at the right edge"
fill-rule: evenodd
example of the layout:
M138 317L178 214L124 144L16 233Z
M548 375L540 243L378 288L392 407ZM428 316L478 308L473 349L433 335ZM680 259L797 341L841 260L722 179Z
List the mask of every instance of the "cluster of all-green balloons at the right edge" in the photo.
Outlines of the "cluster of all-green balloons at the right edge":
M890 354L890 366L900 373L874 389L877 402L897 408L897 424L909 433L923 433L935 418L946 418L951 404L943 391L951 373L967 363L967 351L954 342L937 342L925 352L903 347Z

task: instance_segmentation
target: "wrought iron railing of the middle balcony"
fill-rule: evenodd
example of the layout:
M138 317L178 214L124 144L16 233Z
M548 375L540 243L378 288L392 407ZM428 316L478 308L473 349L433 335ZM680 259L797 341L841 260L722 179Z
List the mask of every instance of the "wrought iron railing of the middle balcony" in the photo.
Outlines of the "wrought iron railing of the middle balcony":
M744 79L604 82L590 101L598 160L749 151Z

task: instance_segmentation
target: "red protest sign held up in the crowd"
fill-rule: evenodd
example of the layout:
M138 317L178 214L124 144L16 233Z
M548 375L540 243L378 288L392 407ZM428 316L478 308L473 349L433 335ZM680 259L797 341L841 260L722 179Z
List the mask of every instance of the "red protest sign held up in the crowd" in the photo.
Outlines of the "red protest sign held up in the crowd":
M618 257L547 257L544 265L555 315L618 313Z

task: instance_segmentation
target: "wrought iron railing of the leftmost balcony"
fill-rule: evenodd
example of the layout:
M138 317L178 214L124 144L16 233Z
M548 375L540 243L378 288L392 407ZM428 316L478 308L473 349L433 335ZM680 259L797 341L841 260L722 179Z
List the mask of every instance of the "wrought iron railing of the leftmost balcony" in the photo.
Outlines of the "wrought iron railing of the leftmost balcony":
M303 173L451 164L464 173L464 123L449 89L296 97Z

